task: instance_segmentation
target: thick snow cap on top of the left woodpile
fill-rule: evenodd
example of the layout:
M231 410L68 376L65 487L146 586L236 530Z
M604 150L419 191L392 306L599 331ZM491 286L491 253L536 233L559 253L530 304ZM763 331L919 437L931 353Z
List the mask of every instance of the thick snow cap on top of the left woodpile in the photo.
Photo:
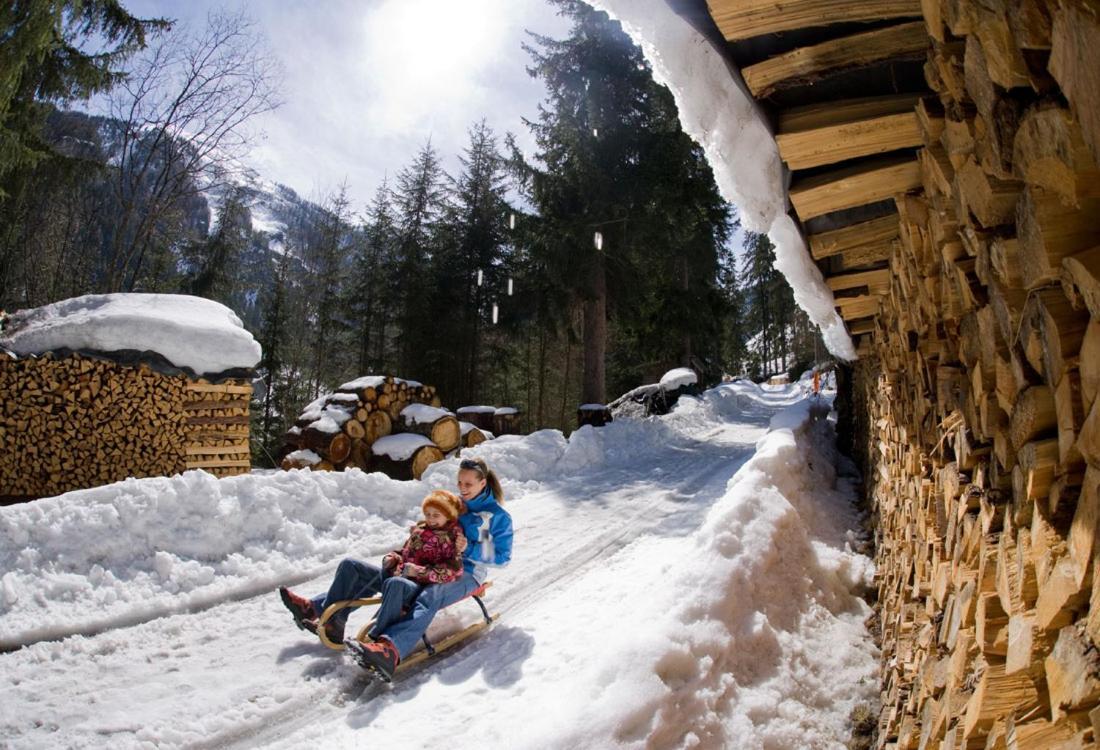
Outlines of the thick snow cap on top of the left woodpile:
M188 295L85 295L19 310L0 333L0 346L20 355L151 351L197 375L255 367L261 355L232 310Z

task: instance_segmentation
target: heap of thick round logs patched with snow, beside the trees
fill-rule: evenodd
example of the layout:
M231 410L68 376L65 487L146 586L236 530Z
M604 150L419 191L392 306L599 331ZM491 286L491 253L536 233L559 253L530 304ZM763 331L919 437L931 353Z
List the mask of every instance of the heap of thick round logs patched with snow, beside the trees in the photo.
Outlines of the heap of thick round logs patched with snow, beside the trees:
M283 468L381 471L419 478L485 434L440 408L436 388L389 375L367 375L306 407L284 437Z

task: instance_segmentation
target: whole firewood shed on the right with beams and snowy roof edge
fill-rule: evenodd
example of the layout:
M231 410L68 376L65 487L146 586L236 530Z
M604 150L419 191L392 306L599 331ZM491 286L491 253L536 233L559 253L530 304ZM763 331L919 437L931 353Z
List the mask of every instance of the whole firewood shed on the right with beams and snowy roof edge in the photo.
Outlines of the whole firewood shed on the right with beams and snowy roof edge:
M879 747L1092 747L1100 7L594 2L831 350L860 356Z

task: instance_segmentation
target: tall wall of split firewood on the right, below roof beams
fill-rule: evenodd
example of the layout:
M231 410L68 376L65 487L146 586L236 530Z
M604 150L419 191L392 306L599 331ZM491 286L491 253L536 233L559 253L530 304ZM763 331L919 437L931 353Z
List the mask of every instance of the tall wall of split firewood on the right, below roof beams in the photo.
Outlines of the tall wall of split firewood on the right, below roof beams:
M1100 18L1075 0L921 7L938 95L917 110L924 190L897 200L856 371L879 746L1093 747Z

